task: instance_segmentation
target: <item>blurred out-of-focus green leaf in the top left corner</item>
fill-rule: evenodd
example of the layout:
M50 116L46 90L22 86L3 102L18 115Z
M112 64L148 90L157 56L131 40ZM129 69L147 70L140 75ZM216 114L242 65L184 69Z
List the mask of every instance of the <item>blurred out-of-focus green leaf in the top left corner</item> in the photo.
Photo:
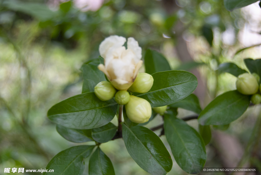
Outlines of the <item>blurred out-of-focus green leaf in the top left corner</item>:
M29 14L42 21L53 19L57 15L57 12L50 10L44 3L8 0L4 1L1 5L14 11Z

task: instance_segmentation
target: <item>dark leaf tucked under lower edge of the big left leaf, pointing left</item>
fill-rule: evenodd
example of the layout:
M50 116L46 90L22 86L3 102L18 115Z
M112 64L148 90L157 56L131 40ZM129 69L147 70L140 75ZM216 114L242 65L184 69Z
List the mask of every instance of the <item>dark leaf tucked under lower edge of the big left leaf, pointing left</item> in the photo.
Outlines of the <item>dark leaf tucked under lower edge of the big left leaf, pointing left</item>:
M87 137L80 129L67 128L62 125L56 126L57 132L66 140L74 143L83 143L93 141L91 137ZM88 129L90 130L90 129Z

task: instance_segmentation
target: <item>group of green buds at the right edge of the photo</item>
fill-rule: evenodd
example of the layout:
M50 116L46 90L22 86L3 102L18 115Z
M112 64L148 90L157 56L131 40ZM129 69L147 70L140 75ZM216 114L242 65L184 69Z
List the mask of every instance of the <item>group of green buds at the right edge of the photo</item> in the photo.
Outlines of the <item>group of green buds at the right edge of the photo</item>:
M244 95L252 95L251 101L253 104L261 103L261 84L258 87L260 77L256 73L244 73L238 76L236 80L236 89ZM259 89L259 92L258 92Z

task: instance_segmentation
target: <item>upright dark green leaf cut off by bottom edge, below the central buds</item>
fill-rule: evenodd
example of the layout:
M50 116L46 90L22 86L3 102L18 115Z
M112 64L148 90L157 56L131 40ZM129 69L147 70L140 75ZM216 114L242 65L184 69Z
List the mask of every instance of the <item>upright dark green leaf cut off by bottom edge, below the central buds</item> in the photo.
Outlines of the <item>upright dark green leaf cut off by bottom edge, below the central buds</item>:
M90 157L89 175L115 175L111 160L99 147Z

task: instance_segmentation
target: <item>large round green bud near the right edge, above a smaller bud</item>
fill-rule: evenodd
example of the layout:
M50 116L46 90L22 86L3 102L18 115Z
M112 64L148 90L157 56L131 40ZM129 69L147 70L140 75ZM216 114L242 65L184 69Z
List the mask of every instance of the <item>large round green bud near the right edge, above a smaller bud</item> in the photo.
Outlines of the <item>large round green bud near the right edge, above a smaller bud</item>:
M244 95L255 94L258 91L257 80L253 75L249 73L241 74L236 80L236 89Z

